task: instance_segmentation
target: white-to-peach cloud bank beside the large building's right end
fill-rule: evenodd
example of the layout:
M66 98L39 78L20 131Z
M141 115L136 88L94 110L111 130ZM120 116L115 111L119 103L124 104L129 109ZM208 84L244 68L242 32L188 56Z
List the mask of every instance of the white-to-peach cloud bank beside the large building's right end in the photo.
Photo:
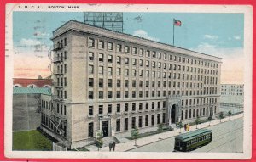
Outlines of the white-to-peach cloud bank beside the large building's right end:
M245 59L243 48L216 47L212 44L204 42L191 50L222 58L221 83L244 83L243 76Z

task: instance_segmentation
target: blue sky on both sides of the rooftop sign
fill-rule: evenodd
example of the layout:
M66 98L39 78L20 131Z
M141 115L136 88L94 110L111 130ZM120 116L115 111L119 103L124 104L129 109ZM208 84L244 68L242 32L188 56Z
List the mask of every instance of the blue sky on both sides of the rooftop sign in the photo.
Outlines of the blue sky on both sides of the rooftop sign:
M124 13L124 32L172 45L173 19L182 21L175 27L175 46L222 58L243 54L244 15L239 13ZM15 53L47 58L52 31L68 20L83 21L83 13L14 12ZM37 52L35 45L44 47Z

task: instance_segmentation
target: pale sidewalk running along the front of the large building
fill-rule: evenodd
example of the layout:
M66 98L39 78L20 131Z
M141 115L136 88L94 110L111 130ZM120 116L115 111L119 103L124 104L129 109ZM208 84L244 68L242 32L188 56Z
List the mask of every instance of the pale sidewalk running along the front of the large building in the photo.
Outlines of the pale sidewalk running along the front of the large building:
M241 118L242 116L243 116L243 114L226 117L226 118L222 119L221 122L223 123L223 122L230 121L230 120L236 120L238 118ZM218 120L218 119L212 120L210 126L218 125L219 123L220 123L220 120ZM198 125L197 127L198 127L198 129L209 127L209 122L202 123L202 124ZM190 126L190 131L195 131L195 130L196 130L196 126ZM137 139L137 145L138 145L137 147L141 147L141 146L144 146L144 145L147 145L147 144L150 144L153 142L157 142L157 141L169 138L169 137L175 137L180 134L179 132L180 132L180 129L174 129L173 131L163 132L163 133L161 133L161 139L159 139L159 134L139 138L139 139ZM181 129L181 132L182 133L185 132L183 128ZM130 142L116 144L115 151L125 152L125 151L131 150L133 148L137 148L137 147L134 146L134 140L132 140ZM91 147L90 147L90 151L97 151L97 149L94 150L94 149L91 149ZM101 148L100 151L108 152L109 148L104 147L104 148Z

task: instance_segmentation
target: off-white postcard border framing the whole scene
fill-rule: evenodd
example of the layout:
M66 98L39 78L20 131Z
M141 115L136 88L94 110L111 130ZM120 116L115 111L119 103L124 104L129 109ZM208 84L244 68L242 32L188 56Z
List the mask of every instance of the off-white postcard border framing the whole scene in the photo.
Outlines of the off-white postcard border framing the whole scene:
M35 6L20 9L19 6ZM48 6L65 6L50 9ZM69 9L67 6L79 6ZM37 8L37 6L41 8ZM182 9L181 9L182 8ZM149 152L49 152L12 151L12 78L13 78L13 12L172 12L172 13L243 13L244 14L244 142L243 153L149 153ZM242 22L241 22L242 23ZM7 4L6 5L6 53L5 53L5 133L4 151L8 158L60 158L60 159L250 159L252 155L252 66L253 66L253 9L245 5L166 5L166 4Z

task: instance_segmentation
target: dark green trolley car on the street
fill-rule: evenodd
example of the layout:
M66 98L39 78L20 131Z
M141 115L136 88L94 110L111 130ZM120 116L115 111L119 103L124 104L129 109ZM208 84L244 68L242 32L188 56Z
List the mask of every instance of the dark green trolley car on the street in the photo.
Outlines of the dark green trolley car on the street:
M200 129L175 137L175 151L188 152L212 142L212 130Z

